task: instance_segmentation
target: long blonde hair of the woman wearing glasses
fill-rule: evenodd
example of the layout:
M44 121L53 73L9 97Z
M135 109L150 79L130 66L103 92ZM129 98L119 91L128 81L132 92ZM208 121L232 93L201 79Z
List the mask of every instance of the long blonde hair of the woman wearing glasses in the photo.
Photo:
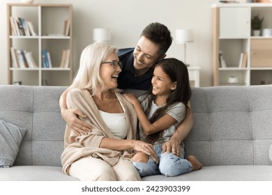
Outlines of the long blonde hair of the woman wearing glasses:
M74 88L91 89L91 95L95 94L99 87L102 90L104 82L99 75L100 64L116 52L116 47L103 43L88 45L83 49L80 56L80 68L72 86Z

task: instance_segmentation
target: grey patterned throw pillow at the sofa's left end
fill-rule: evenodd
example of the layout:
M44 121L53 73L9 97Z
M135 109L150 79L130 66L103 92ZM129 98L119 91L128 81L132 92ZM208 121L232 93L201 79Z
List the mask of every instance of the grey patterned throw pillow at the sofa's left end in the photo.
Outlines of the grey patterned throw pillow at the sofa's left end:
M27 130L0 119L0 167L13 166Z

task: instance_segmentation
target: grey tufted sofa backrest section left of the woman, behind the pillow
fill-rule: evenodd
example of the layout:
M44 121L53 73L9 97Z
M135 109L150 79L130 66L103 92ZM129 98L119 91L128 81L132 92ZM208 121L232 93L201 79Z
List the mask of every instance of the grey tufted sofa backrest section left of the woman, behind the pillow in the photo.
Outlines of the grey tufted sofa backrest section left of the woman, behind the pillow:
M59 97L66 88L0 86L0 118L27 128L15 165L61 166L66 123Z

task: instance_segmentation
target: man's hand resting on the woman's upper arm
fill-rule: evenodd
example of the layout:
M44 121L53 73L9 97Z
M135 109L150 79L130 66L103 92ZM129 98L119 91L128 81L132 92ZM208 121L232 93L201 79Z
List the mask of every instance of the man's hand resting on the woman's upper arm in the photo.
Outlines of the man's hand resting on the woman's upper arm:
M77 134L87 134L87 132L91 132L91 127L88 123L77 118L77 116L81 116L83 118L86 115L78 110L78 109L63 109L61 111L62 118L66 121L67 125Z

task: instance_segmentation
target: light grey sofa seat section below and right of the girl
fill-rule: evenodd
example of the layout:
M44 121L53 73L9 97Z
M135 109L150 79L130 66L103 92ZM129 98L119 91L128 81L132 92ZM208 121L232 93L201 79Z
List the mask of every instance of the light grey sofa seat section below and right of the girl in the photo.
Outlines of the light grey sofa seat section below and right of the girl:
M192 171L181 176L165 178L163 175L148 176L144 181L271 181L272 166L269 165L229 165L204 166L199 171Z

